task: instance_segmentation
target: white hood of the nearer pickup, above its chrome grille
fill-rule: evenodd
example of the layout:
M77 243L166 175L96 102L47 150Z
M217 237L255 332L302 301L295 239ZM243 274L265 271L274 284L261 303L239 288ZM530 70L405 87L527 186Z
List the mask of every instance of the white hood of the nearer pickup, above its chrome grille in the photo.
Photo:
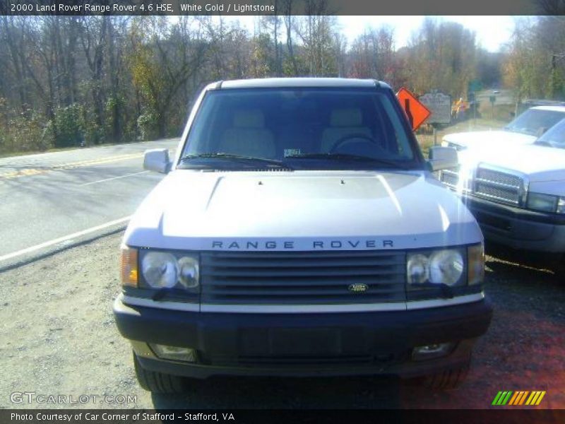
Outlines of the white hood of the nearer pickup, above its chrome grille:
M565 181L565 149L562 148L530 145L458 153L465 168L484 163L521 172L530 182Z

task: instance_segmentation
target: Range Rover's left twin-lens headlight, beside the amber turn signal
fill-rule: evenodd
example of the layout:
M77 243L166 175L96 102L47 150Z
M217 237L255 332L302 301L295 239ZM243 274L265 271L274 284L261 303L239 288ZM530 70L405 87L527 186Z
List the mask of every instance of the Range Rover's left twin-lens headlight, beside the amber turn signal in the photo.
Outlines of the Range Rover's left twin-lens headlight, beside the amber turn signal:
M179 288L194 292L199 288L198 257L185 252L139 251L140 288Z

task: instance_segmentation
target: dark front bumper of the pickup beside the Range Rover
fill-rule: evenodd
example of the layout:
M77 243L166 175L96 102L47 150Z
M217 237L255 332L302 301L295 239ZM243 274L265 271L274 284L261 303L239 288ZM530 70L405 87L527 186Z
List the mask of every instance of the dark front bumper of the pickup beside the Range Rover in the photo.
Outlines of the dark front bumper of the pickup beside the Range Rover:
M539 252L565 252L565 216L528 211L471 196L463 198L479 223L484 238Z

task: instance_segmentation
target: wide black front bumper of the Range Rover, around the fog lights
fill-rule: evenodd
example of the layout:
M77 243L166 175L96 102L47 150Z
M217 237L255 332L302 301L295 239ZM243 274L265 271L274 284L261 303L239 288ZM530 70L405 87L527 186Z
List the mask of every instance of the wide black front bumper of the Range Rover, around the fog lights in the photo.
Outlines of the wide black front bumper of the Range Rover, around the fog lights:
M484 299L395 312L234 314L164 310L114 302L122 336L143 368L172 375L400 375L465 365L492 307ZM458 342L442 358L412 360L412 348ZM157 358L147 343L194 348L196 363Z

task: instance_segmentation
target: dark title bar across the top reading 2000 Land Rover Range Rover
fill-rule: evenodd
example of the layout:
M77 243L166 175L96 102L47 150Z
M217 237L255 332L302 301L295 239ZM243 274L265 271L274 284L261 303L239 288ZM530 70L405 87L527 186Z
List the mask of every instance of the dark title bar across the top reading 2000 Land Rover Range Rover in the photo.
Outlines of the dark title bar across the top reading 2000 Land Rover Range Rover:
M0 15L564 15L541 0L0 0Z

